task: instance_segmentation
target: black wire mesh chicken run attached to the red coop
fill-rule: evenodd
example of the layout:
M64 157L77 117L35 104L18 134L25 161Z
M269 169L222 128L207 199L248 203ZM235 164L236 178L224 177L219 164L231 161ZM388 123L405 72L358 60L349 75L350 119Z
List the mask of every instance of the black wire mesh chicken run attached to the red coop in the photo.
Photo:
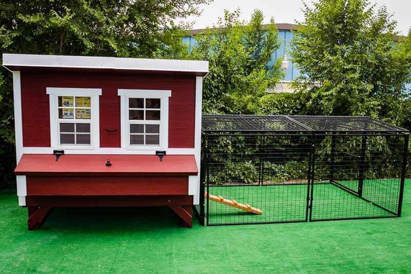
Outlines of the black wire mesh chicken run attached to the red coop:
M408 139L370 117L205 115L200 222L398 217Z

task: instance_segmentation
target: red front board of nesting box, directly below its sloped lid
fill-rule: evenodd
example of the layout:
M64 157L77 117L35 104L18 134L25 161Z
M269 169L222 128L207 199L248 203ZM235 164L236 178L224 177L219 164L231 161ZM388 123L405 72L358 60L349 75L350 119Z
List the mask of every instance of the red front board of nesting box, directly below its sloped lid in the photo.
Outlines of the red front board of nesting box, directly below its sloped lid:
M44 177L27 176L29 196L186 195L184 177Z

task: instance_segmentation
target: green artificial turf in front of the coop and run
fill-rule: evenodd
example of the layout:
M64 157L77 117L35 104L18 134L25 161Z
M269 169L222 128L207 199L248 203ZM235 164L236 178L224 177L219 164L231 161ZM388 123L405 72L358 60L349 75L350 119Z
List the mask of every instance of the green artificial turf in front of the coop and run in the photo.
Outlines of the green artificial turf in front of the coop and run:
M55 209L27 231L27 209L0 192L0 272L409 272L411 180L403 216L179 227L166 208Z

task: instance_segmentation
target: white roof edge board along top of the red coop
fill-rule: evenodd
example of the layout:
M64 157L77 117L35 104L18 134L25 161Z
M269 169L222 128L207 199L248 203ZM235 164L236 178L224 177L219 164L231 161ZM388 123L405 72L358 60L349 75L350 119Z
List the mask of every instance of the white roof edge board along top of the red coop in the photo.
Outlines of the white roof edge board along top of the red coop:
M12 53L3 53L3 66L209 72L208 61Z

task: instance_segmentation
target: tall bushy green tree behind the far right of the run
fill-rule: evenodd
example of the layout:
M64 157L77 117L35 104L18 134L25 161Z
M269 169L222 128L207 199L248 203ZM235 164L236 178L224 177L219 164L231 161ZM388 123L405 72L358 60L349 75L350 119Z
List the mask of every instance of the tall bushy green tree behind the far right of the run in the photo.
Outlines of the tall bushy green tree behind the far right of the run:
M411 81L411 42L397 38L396 21L368 0L306 4L291 57L301 71L293 86L308 96L308 112L370 115L402 124Z

